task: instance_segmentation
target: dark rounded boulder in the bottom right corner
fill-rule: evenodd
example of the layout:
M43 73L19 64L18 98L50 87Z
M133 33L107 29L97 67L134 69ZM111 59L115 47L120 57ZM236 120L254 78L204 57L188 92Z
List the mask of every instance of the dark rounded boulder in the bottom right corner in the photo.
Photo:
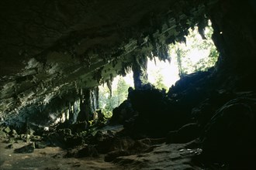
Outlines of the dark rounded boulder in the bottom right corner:
M202 158L227 162L231 169L254 169L255 113L255 95L237 97L220 107L201 136Z

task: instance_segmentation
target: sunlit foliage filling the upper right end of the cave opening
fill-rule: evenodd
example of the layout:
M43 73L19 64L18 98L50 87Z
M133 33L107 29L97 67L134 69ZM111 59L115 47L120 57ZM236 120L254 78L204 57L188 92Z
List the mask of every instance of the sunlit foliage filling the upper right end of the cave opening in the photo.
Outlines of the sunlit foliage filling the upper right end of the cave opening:
M211 39L213 28L211 26L206 27L204 35L206 39L202 39L195 30L197 29L189 30L186 44L176 43L169 46L171 58L177 60L179 76L181 77L184 74L208 70L215 65L219 56ZM207 56L202 57L203 55Z

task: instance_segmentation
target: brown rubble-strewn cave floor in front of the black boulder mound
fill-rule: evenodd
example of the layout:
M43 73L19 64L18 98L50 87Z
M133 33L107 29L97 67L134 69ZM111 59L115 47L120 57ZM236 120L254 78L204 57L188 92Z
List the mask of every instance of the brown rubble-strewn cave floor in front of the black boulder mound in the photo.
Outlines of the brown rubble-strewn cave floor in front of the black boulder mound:
M102 128L102 131L98 131L91 138L91 144L67 149L48 145L45 148L34 148L33 153L26 151L22 154L16 150L23 150L28 145L35 146L35 143L21 140L19 134L13 141L9 141L12 137L5 134L6 137L2 138L5 141L0 145L0 166L2 169L199 169L189 163L191 156L198 154L197 149L187 149L185 145L165 145L163 138L134 140L130 137L119 137L115 132L119 130L120 126ZM13 148L6 148L10 142Z

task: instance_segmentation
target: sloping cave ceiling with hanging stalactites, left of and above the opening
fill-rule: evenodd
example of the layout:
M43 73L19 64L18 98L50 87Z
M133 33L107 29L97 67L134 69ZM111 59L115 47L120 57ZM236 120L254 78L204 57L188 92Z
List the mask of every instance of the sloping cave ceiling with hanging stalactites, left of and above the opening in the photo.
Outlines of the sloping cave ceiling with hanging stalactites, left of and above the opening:
M168 59L212 1L1 1L0 116L125 74L133 56Z

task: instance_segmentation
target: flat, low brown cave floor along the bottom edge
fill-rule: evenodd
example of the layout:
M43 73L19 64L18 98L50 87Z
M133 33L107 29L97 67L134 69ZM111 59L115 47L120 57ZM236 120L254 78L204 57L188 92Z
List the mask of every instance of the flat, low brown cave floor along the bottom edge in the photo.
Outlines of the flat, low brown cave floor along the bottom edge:
M185 144L154 145L152 151L138 155L118 157L115 163L104 162L105 155L98 158L64 158L61 148L35 149L33 153L17 154L13 150L27 145L24 141L13 144L0 143L0 169L207 169L192 164L192 156L199 149L187 149Z

